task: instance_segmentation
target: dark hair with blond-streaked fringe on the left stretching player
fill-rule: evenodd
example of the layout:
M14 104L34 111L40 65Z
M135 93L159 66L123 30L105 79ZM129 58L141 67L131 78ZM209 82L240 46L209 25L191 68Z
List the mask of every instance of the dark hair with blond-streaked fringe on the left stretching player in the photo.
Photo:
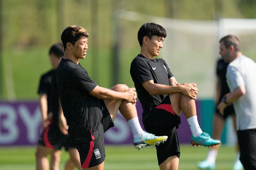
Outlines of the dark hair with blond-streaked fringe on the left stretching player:
M61 41L64 46L64 50L66 50L68 42L74 45L82 36L89 37L89 34L81 26L68 26L65 28L61 34Z

